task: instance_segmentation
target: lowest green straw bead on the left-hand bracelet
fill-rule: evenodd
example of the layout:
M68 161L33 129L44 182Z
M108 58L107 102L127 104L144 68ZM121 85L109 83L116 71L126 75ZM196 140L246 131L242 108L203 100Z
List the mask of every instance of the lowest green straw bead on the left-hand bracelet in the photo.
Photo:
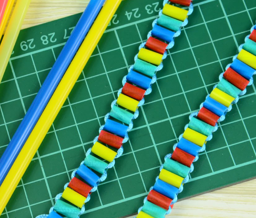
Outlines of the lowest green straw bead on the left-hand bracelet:
M69 218L77 218L81 209L74 207L60 199L56 201L53 210Z

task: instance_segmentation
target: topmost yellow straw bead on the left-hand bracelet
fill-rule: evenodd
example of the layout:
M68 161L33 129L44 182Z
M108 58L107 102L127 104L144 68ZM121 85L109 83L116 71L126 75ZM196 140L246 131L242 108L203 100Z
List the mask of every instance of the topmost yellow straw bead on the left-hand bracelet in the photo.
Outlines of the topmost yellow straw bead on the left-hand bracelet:
M165 4L162 13L177 20L184 21L187 18L188 11L170 4Z

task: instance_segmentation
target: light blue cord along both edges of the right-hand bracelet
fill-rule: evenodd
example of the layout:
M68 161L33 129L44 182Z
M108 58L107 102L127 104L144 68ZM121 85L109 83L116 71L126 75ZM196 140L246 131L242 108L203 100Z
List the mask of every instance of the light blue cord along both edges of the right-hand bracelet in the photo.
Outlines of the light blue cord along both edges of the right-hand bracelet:
M251 32L253 31L253 29L256 29L256 25L251 28ZM248 37L249 37L249 36L246 36L246 37L245 37L245 41L247 40ZM241 49L242 49L242 46L239 46L239 52L241 51ZM236 60L236 58L237 58L237 55L235 55L235 56L233 57L233 61ZM226 67L226 69L227 69L228 67L230 67L230 66L231 66L231 64L228 64L227 67ZM221 80L221 79L223 78L223 74L224 74L224 73L222 73L222 74L219 75L219 80ZM256 72L255 72L254 74L256 74ZM251 82L251 81L252 81L252 82ZM248 85L251 85L252 83L253 83L253 79L251 78L251 79L250 79L250 83L249 83ZM216 87L216 85L214 85L214 88L215 88L215 87ZM246 89L245 89L244 91L241 91L241 93L239 93L239 96L244 95L245 93L246 93ZM238 96L238 97L231 103L231 105L225 110L224 114L221 116L221 118L219 118L218 122L221 122L221 121L223 121L223 120L225 119L225 114L226 114L227 112L229 112L229 111L232 109L232 104L235 104L235 103L238 102L239 96ZM209 97L209 95L207 95L207 97ZM201 109L202 107L203 107L203 103L200 105L200 109ZM198 112L191 113L191 114L189 115L189 120L190 120L193 116L197 116L197 115L198 115ZM188 124L185 125L185 129L187 128L187 126L188 126ZM212 130L212 133L213 133L214 131L216 131L217 128L218 128L218 126L217 126L217 123L216 123L215 126L214 126L214 128L213 128L213 130ZM212 139L212 133L207 137L206 141L210 141L210 140ZM183 136L183 134L181 134L181 135L179 136L179 141L181 140L182 136ZM176 147L177 147L177 143L174 144L173 150L175 150ZM202 146L202 148L201 148L201 150L200 150L199 152L202 152L202 151L204 151L204 150L205 150L205 143L203 144L203 146ZM172 154L167 154L167 155L165 156L165 160L166 160L167 158L171 158L171 156L172 156ZM197 160L198 160L198 157L199 157L199 156L197 155L197 156L195 157L195 159L194 159L193 162L197 161ZM162 168L163 168L163 165L160 166L160 171L161 171ZM191 173L193 170L194 170L194 165L192 164L191 167L190 167L189 173ZM159 176L156 177L156 181L157 181L158 178L159 178ZM184 178L182 184L188 182L188 180L189 180L189 177L188 177L188 175L187 175L186 178ZM153 187L152 187L150 190L152 190L152 189L153 189ZM181 187L180 187L180 189L179 189L179 193L180 193L182 190L183 190L183 185L181 185ZM176 199L175 199L175 200L176 200ZM144 203L145 203L145 202L144 202ZM174 200L172 201L172 203L175 203ZM142 207L139 208L138 213L141 211L141 208L142 208ZM169 212L169 210L168 210L166 214L169 214L169 213L170 213L170 212Z

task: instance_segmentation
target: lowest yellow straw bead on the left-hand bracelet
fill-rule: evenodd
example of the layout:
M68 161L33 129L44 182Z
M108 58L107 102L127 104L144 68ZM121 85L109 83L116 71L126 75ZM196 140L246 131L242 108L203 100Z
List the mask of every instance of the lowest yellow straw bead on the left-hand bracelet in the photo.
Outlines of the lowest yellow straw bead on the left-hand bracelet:
M73 189L67 187L63 193L62 193L62 198L64 198L65 200L67 200L68 202L76 205L79 208L82 208L82 206L84 205L84 202L86 200L86 198L84 196L82 196L81 194L77 193L76 191L74 191Z

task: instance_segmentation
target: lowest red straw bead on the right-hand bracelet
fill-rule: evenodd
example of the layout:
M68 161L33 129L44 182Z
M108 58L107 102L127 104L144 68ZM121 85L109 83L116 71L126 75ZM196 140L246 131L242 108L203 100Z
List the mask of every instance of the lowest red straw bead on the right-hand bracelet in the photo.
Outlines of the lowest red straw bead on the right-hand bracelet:
M172 199L155 190L151 190L150 193L148 193L147 200L159 207L162 207L163 209L166 209L167 211L172 202Z

